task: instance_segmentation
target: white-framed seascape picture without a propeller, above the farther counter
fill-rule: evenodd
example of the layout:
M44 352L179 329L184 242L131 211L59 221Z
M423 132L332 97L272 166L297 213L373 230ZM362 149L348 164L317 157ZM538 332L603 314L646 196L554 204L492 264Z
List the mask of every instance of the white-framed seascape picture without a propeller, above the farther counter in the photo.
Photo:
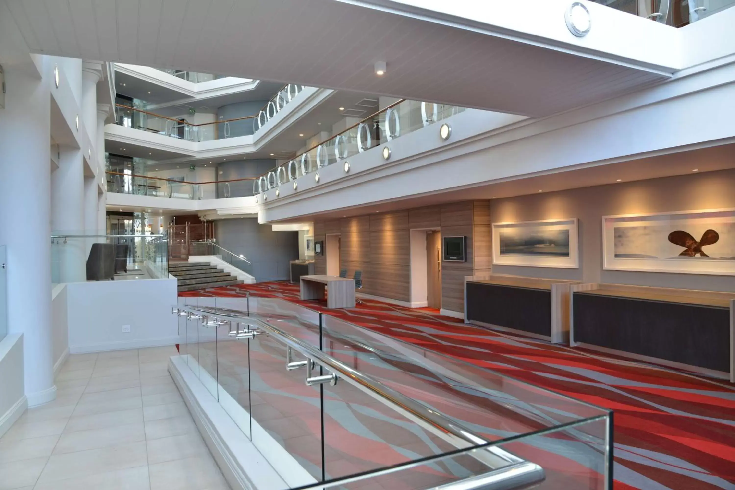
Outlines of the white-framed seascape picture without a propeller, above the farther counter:
M579 268L577 218L492 223L492 263Z

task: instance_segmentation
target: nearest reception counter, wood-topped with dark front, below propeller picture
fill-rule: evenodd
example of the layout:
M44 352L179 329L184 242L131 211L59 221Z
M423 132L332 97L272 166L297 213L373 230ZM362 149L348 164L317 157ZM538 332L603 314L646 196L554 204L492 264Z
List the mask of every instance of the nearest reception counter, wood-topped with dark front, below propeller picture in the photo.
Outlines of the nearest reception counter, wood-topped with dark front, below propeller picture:
M570 345L735 381L735 293L577 284Z

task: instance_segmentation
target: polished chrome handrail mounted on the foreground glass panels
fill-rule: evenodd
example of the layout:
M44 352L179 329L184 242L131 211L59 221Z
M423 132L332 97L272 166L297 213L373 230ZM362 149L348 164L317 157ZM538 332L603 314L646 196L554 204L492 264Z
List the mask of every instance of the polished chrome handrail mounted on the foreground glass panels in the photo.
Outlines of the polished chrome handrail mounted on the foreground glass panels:
M265 322L264 320L245 316L242 311L232 309L212 308L208 306L194 307L188 305L174 306L173 309L176 309L177 312L190 311L193 314L204 313L208 317L227 320L231 323L245 323L248 327L257 326L257 328L259 328L263 333L279 339L279 341L284 343L287 347L292 347L293 349L298 350L298 352L306 356L307 360L315 361L315 363L320 364L332 373L331 375L320 376L318 378L331 377L334 381L337 379L345 380L352 386L355 386L362 392L376 398L376 400L385 403L399 414L413 422L416 422L421 427L429 430L431 433L434 433L435 436L440 437L458 449L472 448L482 444L488 444L490 442L473 430L466 428L449 417L446 417L444 414L423 405L423 403L417 402L416 400L395 391L395 389L390 388L390 386L386 386L384 383L381 383L372 376L355 370L353 367L350 367L348 364L343 363L343 361L330 356L318 347L301 342L301 340L281 330L276 327L276 325ZM246 333L251 335L247 337L243 336L243 338L251 338L254 331L248 330ZM310 362L306 362L306 367L309 367L309 365ZM307 378L306 383L309 384L309 378ZM490 466L492 469L500 469L506 468L509 465L515 466L518 464L528 463L522 458L519 458L500 447L487 447L487 452L478 452L478 454L473 455L473 457L478 459L478 461L487 464L487 466ZM531 465L534 470L534 474L538 477L537 481L545 478L541 466L536 464ZM525 477L526 472L524 472L523 475Z

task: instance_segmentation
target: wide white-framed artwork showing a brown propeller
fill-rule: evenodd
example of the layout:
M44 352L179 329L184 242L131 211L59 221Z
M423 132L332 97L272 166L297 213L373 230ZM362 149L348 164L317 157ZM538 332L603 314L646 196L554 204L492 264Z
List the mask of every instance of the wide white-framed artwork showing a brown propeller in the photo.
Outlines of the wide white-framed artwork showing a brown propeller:
M603 268L735 275L735 208L603 216Z

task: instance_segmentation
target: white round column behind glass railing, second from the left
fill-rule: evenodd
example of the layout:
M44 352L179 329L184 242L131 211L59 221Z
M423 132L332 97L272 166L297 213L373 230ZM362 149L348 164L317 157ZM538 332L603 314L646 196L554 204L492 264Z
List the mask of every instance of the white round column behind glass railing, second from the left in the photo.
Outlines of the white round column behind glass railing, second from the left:
M51 228L54 234L85 231L84 157L79 148L61 147L59 168L51 172ZM60 282L87 280L85 239L69 238L57 246Z

